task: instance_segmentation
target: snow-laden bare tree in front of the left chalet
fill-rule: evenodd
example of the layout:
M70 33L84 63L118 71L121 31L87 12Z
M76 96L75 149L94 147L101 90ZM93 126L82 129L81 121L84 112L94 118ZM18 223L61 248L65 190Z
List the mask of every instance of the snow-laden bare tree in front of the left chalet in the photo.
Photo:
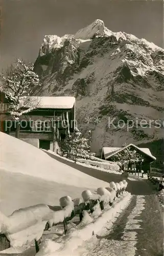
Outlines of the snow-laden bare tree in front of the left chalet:
M19 138L20 116L36 109L39 104L38 97L41 82L39 76L33 71L33 64L17 59L16 65L11 65L0 75L0 90L10 103L9 113L16 122L15 137Z

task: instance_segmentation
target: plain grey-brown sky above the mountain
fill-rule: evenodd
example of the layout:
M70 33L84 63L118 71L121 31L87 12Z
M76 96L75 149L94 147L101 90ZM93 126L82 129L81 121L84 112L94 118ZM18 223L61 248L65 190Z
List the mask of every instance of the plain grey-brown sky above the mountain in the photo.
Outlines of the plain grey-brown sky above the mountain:
M34 62L44 35L74 34L98 18L113 32L125 31L163 47L160 0L0 0L0 5L1 70L16 58Z

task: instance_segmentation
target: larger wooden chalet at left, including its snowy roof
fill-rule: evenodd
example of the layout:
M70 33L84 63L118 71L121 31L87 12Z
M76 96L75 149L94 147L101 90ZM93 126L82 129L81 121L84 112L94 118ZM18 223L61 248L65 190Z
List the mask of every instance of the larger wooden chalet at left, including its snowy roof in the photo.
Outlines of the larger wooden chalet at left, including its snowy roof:
M54 142L75 129L75 97L31 97L37 108L20 116L20 139L38 139L39 147L54 150ZM27 108L28 109L28 108ZM1 93L1 131L15 137L15 120L10 103Z

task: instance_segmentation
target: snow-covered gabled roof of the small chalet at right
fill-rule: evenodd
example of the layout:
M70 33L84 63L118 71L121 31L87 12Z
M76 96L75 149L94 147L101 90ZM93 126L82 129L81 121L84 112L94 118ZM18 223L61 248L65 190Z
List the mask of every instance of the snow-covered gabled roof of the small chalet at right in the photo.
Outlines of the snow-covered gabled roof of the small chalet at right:
M134 146L135 148L137 148L137 150L143 152L144 154L146 154L147 156L151 157L153 160L156 160L156 157L154 157L149 148L146 148L146 147L137 147L136 145L134 144L129 144L127 145L127 147L129 146ZM119 153L120 151L124 150L126 148L125 147L103 147L102 148L102 151L104 153L104 157L105 157L105 160L109 159L111 156Z

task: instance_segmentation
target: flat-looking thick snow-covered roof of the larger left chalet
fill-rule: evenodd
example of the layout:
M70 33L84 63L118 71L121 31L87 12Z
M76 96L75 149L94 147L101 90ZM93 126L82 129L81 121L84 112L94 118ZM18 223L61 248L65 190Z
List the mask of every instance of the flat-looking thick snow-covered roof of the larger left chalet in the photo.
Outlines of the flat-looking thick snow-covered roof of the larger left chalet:
M75 97L31 97L38 102L39 109L72 109Z

